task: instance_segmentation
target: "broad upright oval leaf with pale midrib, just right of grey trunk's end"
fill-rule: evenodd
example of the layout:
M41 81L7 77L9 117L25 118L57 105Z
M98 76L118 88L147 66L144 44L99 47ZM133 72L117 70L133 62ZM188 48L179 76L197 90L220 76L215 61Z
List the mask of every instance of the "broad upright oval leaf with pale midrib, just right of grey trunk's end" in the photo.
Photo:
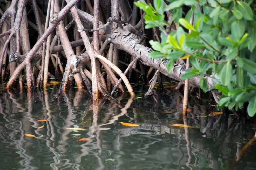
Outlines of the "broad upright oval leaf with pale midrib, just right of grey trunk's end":
M222 68L221 72L220 72L220 82L224 85L227 86L231 79L232 79L232 66L230 64L230 61L228 61L224 67Z

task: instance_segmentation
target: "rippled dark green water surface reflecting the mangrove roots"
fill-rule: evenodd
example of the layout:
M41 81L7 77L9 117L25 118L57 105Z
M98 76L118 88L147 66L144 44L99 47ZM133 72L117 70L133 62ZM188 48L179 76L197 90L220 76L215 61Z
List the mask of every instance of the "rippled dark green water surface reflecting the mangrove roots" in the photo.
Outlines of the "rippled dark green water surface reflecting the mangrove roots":
M0 95L0 169L256 168L255 144L239 158L254 136L254 119L246 115L237 119L228 113L207 116L216 108L206 97L192 97L190 112L183 118L181 96L164 90L155 93L157 103L144 101L143 94L138 94L135 99L126 95L103 99L93 106L81 89L4 91ZM194 128L170 126L183 120Z

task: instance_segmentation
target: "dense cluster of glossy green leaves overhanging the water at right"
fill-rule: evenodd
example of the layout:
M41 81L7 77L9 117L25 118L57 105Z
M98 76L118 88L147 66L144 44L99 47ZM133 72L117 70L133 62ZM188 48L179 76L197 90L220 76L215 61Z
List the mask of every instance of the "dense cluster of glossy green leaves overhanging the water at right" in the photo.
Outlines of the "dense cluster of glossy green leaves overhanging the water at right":
M159 27L161 43L150 41L157 52L152 58L169 60L172 70L176 59L187 58L192 65L181 79L201 75L200 87L208 89L207 79L212 78L215 88L222 92L218 108L241 108L249 102L250 116L256 113L256 2L252 0L154 0L154 7L135 2L146 12L145 28ZM183 6L190 6L185 13ZM202 6L200 11L196 6ZM164 11L172 12L171 24ZM190 22L193 17L193 23ZM174 27L170 32L166 26Z

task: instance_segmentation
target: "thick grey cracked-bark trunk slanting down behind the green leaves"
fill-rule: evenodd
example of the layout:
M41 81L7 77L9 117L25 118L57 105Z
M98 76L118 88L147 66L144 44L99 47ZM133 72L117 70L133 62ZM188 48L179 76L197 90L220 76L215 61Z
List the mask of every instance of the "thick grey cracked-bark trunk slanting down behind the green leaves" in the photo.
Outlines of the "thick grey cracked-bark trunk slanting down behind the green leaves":
M131 32L125 30L116 29L108 38L108 41L120 50L124 50L131 54L133 58L136 58L138 55L140 56L140 60L142 64L154 67L158 69L162 74L173 78L182 83L185 80L181 80L180 77L185 73L186 67L183 64L174 64L172 71L169 73L165 67L167 61L161 62L160 59L152 59L149 58L148 55L150 52L153 52L151 48L145 47L142 44L139 44L139 37L132 34ZM212 78L208 78L208 88L213 87L214 83ZM189 81L191 87L200 87L200 76L196 76L191 78Z

